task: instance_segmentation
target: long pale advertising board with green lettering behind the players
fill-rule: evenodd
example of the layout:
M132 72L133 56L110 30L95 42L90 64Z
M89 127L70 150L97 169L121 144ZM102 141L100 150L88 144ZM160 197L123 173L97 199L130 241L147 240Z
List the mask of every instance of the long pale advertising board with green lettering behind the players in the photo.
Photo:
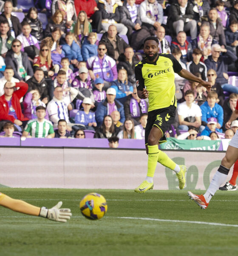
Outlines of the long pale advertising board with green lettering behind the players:
M185 189L207 189L225 152L166 151L187 166ZM233 168L233 167L232 167ZM145 150L0 148L0 186L134 189L146 177ZM232 169L228 175L232 175ZM157 164L154 189L178 189L175 172Z

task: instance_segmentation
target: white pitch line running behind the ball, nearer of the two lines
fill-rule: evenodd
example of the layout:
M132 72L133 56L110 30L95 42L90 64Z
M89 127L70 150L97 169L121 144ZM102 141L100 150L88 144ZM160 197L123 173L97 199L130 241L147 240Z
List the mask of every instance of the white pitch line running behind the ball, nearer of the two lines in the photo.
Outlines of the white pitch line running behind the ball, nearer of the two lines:
M35 218L36 216L0 216L0 218ZM83 216L72 216L71 218L84 218ZM205 224L212 226L224 226L224 227L238 227L235 224L223 224L215 222L204 222L204 221L180 221L180 220L166 220L156 218L137 218L137 217L105 217L105 218L119 218L119 219L133 219L142 221L161 221L161 222L180 222L180 223L192 223L192 224Z

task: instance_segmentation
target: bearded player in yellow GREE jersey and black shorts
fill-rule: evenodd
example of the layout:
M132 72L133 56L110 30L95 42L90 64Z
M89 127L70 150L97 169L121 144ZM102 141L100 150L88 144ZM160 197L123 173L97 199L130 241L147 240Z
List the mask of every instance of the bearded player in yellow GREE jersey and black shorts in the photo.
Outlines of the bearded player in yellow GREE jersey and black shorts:
M148 154L146 179L135 189L137 193L144 193L153 189L153 176L157 162L176 172L179 188L185 185L186 166L178 166L167 154L159 150L158 144L166 142L165 131L173 124L176 113L176 97L174 73L195 81L207 87L210 82L194 76L184 70L171 54L159 54L159 41L156 37L144 40L145 57L135 67L136 86L139 98L149 98L148 119L145 128L145 146Z

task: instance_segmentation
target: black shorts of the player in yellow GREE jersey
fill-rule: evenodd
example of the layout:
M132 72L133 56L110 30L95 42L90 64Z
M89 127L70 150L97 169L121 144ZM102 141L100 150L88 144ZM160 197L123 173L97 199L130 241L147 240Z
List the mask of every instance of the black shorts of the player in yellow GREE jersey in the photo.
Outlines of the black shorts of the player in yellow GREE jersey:
M150 130L154 125L157 126L163 134L163 137L161 137L159 140L159 144L167 141L164 133L170 128L170 125L174 123L175 114L176 107L173 105L170 105L167 108L155 109L148 112L147 124L144 134L145 145L148 143Z

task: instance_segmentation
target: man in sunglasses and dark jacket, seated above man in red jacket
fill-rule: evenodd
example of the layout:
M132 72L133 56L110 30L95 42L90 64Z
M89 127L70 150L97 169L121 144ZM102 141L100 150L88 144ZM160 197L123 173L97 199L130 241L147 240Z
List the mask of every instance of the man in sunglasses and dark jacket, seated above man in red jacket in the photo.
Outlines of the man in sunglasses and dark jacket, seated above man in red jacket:
M34 75L31 63L26 52L21 52L21 42L18 39L12 41L11 49L6 53L6 66L13 67L14 78L27 81Z

